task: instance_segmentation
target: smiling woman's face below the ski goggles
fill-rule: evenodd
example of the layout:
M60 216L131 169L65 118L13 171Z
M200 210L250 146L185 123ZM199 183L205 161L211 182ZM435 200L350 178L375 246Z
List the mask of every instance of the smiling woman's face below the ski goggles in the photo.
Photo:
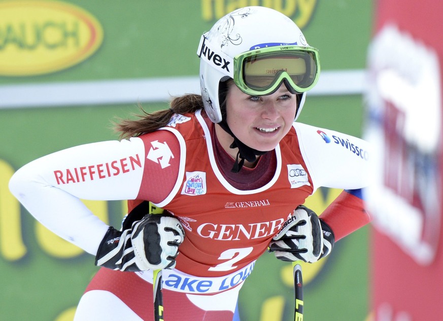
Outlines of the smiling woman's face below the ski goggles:
M291 129L297 99L286 86L266 96L250 96L230 85L226 120L234 135L258 151L271 151Z

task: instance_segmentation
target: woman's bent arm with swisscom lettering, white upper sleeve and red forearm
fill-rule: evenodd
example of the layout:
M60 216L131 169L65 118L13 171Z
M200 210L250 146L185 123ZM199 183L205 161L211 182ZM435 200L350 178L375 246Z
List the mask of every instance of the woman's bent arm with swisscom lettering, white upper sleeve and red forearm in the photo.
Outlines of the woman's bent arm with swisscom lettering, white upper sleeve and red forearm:
M337 241L370 222L361 193L369 184L370 146L360 138L329 129L299 123L294 127L314 188L344 190L320 217Z

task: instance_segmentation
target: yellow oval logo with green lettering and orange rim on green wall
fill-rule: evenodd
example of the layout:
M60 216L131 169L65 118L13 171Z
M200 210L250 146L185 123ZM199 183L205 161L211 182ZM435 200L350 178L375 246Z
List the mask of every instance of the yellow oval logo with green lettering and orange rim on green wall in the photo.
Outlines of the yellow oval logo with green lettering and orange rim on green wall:
M85 10L55 1L0 2L0 75L31 76L71 67L103 42Z

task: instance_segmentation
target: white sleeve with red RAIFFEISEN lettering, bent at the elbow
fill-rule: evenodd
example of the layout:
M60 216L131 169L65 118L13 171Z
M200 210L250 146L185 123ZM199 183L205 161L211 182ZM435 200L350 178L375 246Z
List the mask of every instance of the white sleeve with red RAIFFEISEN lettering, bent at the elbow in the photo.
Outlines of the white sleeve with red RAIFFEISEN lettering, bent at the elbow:
M140 138L96 142L30 162L12 176L9 188L45 227L95 255L108 226L80 199L134 199L144 162Z

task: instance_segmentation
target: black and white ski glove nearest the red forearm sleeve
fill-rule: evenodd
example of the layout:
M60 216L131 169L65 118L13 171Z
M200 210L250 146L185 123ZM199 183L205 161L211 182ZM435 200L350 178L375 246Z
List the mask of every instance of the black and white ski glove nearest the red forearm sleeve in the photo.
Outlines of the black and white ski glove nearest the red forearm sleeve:
M327 256L334 245L334 233L317 214L299 205L272 238L269 252L283 261L317 262Z

